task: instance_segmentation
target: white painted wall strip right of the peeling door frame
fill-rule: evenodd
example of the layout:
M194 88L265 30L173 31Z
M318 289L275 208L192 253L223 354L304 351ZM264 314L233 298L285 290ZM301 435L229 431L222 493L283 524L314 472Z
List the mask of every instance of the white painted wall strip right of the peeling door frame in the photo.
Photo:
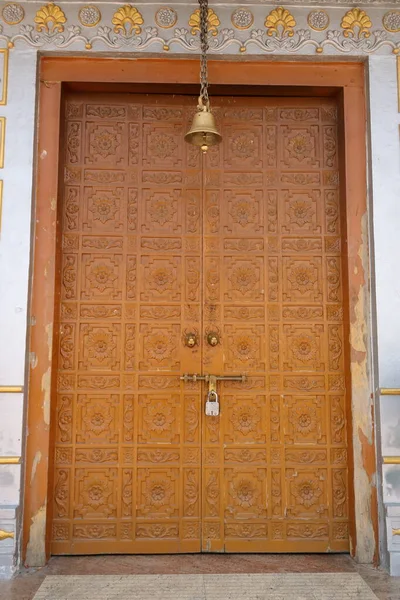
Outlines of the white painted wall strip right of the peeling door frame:
M400 113L394 57L370 58L372 193L379 388L400 388ZM400 456L400 397L380 397L381 451ZM384 465L390 570L400 575L400 464Z

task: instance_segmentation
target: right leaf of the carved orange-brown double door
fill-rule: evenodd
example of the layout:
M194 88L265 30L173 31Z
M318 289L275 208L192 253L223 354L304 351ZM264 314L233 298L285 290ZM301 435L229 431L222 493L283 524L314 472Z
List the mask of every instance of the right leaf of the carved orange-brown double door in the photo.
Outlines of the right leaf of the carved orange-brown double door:
M343 551L348 465L337 110L213 99L206 158L203 549Z

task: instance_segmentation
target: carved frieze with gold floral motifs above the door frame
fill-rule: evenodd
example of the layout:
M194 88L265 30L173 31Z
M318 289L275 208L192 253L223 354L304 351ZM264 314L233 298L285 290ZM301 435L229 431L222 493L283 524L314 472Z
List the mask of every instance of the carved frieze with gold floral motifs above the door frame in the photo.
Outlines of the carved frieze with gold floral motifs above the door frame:
M8 48L198 52L199 10L142 4L6 4L0 41ZM253 9L254 7L252 7ZM400 11L362 8L214 7L212 53L400 54ZM151 11L151 12L150 12ZM188 12L189 11L189 12ZM373 13L373 14L372 14Z

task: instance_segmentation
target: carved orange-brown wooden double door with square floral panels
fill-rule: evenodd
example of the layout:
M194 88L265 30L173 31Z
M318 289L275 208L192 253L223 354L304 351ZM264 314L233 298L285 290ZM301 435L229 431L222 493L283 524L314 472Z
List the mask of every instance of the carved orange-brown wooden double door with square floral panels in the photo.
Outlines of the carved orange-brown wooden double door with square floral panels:
M349 547L336 105L195 104L65 98L53 554Z

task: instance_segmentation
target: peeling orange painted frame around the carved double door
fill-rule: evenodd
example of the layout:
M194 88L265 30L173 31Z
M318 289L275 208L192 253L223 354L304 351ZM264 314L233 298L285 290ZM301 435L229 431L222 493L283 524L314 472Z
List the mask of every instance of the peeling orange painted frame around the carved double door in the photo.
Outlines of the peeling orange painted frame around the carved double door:
M166 68L168 63L168 68ZM226 85L278 85L335 88L341 95L343 107L343 152L341 168L345 173L341 181L345 206L346 231L351 231L351 243L346 247L344 273L348 278L348 318L352 337L365 329L367 309L357 309L364 297L365 280L368 279L367 250L363 244L366 213L366 156L365 156L365 98L364 67L361 63L267 63L266 61L210 62L210 80ZM41 565L49 556L49 527L47 495L50 481L50 407L54 372L52 371L53 339L49 335L55 323L54 294L56 290L56 204L58 196L59 132L61 88L64 82L96 83L197 83L198 64L191 59L82 59L80 57L41 59L39 90L39 134L36 176L36 222L31 316L30 351L37 356L37 364L30 372L28 400L28 436L26 452L26 484L24 498L23 553L28 565ZM46 152L43 152L43 151ZM44 235L43 231L46 231ZM43 302L45 298L45 302ZM356 346L355 346L356 347ZM350 389L353 407L369 412L365 405L369 396L369 380L364 368L366 353L350 350L352 366L359 369L357 388ZM360 374L361 373L361 374ZM364 402L364 405L363 405ZM357 428L359 410L353 413L353 428ZM349 415L351 422L351 415ZM351 435L351 434L350 434ZM375 465L363 464L363 449L354 448L355 468L374 471ZM41 456L41 461L37 460ZM357 492L356 492L357 493ZM365 539L367 533L362 519L369 515L374 527L372 542L376 545L376 489L371 484L360 490L358 511L355 513L355 530L351 532L352 551L356 554L356 533ZM351 510L351 508L350 508ZM363 514L364 513L364 514ZM353 521L353 519L351 519ZM371 541L371 540L370 540Z

